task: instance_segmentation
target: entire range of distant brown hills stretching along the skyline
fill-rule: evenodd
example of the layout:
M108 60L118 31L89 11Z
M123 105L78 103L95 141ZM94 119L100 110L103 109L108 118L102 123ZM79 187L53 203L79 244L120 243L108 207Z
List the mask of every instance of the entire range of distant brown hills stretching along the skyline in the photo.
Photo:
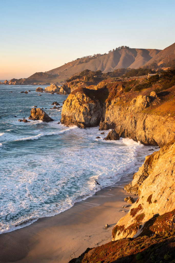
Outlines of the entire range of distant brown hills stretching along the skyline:
M113 72L116 69L138 69L144 66L155 68L157 70L162 67L172 66L171 62L175 60L174 49L175 43L164 49L165 51L159 49L129 48L127 46L121 46L109 50L108 54L94 54L77 58L76 60L65 63L61 67L47 72L36 72L28 78L6 80L4 83L0 84L49 85L55 83L60 85L72 75L86 69L94 72L100 70L102 73L108 73ZM160 56L158 57L159 53Z

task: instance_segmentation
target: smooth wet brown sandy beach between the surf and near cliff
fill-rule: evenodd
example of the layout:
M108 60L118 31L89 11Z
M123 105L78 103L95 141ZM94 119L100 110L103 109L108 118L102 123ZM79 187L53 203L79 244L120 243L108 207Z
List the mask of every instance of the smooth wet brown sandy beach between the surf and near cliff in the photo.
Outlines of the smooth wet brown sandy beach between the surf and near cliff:
M126 182L126 178L124 180ZM1 234L0 262L67 263L87 247L111 241L114 225L129 211L121 208L128 194L122 188L125 183L122 180L120 183L77 202L59 215ZM104 229L105 224L110 227Z

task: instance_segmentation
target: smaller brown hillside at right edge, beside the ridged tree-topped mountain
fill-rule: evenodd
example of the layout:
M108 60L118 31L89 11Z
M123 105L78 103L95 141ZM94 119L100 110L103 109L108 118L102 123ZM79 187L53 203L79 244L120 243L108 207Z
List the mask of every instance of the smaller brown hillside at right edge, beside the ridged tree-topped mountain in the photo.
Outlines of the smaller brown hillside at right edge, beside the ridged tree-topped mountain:
M169 47L161 50L153 58L151 58L145 65L157 64L158 67L163 67L168 62L175 59L175 43ZM167 65L168 66L168 65Z

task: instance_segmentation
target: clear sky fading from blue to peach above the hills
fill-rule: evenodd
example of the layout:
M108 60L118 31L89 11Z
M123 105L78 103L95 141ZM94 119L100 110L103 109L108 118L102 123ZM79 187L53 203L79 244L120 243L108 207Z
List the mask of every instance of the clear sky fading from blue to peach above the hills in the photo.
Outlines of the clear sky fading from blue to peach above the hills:
M175 1L1 0L0 79L27 78L121 45L175 42Z

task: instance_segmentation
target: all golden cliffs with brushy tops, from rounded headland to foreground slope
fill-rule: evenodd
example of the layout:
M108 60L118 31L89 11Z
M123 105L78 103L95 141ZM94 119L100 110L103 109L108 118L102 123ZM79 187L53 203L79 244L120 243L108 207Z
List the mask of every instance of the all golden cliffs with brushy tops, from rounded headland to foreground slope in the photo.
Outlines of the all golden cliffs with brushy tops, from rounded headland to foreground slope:
M134 194L138 199L114 226L112 241L87 248L69 263L175 262L174 105L172 69L149 78L109 78L72 88L62 107L63 124L112 128L120 137L158 145L160 150L146 156L124 187L126 196Z

